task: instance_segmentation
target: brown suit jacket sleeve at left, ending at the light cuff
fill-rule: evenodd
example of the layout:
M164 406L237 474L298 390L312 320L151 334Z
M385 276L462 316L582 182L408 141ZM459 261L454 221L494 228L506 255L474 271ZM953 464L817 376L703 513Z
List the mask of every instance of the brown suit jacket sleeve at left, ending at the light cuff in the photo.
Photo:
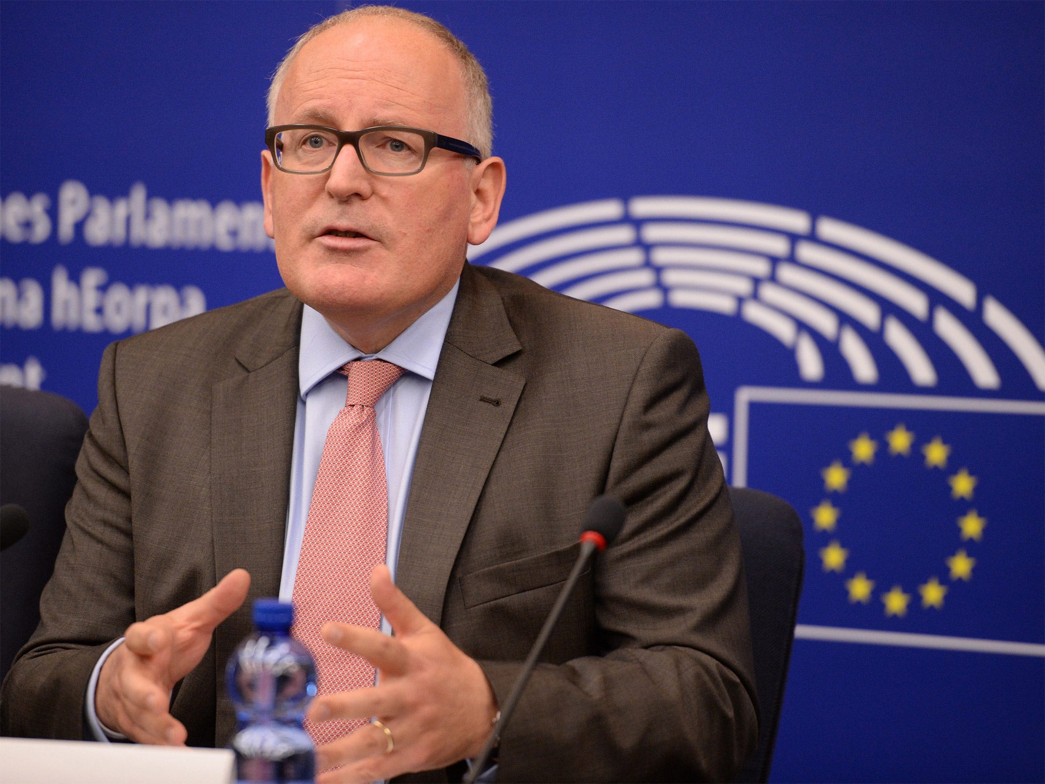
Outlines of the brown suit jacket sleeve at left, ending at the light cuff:
M40 625L4 679L4 735L82 740L84 698L98 658L135 621L127 454L116 399L119 344L98 373L98 408L76 460L76 487Z

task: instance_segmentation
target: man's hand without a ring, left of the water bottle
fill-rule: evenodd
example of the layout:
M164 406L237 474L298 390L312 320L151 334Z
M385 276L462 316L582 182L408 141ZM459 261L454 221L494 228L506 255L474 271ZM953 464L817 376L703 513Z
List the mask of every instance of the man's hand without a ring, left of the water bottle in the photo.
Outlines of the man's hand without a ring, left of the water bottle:
M200 664L214 627L243 603L250 585L245 570L233 570L195 601L129 626L98 673L101 723L138 743L183 745L188 733L168 712L170 690Z

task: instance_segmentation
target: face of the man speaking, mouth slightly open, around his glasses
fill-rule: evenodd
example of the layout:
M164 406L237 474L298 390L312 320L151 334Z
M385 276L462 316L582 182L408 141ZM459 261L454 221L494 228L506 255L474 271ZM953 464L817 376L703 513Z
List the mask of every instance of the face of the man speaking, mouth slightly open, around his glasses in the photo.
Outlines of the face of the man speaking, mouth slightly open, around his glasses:
M401 20L370 18L302 47L279 91L275 124L402 124L462 139L465 106L461 68L449 51ZM344 327L343 337L351 339L358 324L404 328L461 272L475 168L437 148L420 174L380 177L345 146L330 171L292 175L276 169L265 151L265 229L283 282L334 328Z

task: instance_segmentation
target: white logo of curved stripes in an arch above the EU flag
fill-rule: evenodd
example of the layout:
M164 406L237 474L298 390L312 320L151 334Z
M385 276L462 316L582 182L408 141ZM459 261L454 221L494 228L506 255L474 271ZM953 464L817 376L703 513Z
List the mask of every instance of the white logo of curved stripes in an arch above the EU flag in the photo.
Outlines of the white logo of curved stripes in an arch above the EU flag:
M809 239L813 229L820 241ZM492 267L621 310L667 304L739 317L791 349L808 382L821 381L825 371L817 340L804 326L836 346L858 384L879 383L867 343L877 337L914 386L935 386L928 344L904 323L913 317L914 326L931 328L923 340L947 346L974 385L1001 386L969 326L932 303L939 292L975 313L976 285L913 248L836 218L814 222L802 210L729 199L635 197L627 209L623 200L608 199L512 221L469 251L469 258L483 256ZM895 306L901 312L890 313ZM982 321L1045 391L1045 350L1035 336L990 296Z

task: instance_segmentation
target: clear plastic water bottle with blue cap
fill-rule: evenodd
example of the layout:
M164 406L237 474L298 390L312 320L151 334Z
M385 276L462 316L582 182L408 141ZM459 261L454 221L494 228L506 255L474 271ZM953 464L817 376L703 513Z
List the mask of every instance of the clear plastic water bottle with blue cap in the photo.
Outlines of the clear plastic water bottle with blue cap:
M291 637L294 605L254 602L254 633L229 659L226 681L236 707L232 739L240 782L304 784L316 777L311 738L302 727L316 696L316 663Z

